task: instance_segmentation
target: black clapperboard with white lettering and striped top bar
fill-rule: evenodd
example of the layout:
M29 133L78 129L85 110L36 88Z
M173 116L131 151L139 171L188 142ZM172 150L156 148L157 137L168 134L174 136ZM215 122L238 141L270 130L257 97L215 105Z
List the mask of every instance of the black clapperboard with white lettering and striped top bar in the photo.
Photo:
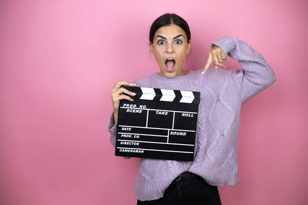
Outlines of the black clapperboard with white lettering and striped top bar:
M115 156L194 160L200 92L121 87Z

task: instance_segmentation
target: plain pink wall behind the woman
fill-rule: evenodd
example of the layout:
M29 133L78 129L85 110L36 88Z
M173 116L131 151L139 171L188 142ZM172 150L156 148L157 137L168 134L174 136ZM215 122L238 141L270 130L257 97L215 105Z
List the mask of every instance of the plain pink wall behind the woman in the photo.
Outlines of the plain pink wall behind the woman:
M277 76L243 105L240 183L219 188L223 204L307 204L306 8L304 0L2 0L0 204L136 204L139 160L114 156L109 91L159 71L148 31L165 12L191 28L186 70L203 67L210 43L229 35Z

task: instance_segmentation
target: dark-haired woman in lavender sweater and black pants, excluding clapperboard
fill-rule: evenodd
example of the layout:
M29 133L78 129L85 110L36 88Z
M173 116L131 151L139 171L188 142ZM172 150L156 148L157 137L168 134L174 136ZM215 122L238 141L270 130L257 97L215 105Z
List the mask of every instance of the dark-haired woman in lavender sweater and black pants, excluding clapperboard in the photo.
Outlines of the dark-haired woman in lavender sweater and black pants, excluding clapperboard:
M134 93L121 85L201 92L194 161L141 158L134 183L137 204L221 204L217 186L238 182L237 135L242 103L272 85L276 78L260 53L235 37L211 44L206 65L184 71L190 51L190 31L176 14L153 22L149 46L159 73L131 84L119 81L111 90L113 113L107 128L115 146L118 107ZM241 70L223 70L227 56L239 61ZM208 69L214 61L215 69Z

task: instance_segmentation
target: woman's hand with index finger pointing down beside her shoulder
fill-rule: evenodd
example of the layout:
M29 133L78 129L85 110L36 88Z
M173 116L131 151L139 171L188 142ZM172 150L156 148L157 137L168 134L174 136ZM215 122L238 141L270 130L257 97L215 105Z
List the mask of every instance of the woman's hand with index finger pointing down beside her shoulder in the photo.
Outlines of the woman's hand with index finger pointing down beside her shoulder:
M215 64L215 71L217 71L219 67L225 68L226 66L221 63L226 60L227 57L223 53L222 49L219 46L215 45L208 54L208 58L206 60L206 64L204 66L202 74L204 74L207 71L212 61L214 61Z

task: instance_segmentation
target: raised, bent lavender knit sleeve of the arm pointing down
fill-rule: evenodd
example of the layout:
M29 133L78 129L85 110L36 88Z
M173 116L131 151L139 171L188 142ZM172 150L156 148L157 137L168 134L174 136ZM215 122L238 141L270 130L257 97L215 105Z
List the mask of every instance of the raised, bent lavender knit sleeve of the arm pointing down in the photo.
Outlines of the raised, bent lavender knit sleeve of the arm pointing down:
M214 45L222 48L225 55L238 60L241 65L241 70L232 70L232 77L238 86L242 103L276 81L273 70L262 55L245 42L235 37L224 36L212 43L211 48Z

